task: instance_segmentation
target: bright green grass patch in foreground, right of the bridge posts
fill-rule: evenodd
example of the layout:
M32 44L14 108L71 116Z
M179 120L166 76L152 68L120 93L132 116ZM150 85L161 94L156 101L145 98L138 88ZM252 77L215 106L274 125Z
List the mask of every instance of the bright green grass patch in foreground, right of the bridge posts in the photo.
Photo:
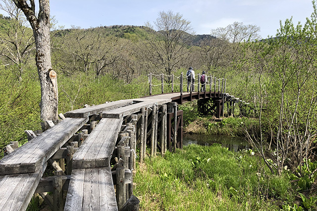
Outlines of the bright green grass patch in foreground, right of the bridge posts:
M294 200L286 174L272 175L259 157L219 144L147 158L134 182L143 211L280 210Z

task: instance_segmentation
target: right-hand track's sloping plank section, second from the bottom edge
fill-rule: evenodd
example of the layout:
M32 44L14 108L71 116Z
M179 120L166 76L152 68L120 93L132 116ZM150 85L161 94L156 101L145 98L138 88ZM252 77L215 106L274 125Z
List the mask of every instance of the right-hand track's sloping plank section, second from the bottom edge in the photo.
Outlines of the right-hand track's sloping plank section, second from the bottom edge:
M102 118L73 157L73 169L107 167L122 118Z

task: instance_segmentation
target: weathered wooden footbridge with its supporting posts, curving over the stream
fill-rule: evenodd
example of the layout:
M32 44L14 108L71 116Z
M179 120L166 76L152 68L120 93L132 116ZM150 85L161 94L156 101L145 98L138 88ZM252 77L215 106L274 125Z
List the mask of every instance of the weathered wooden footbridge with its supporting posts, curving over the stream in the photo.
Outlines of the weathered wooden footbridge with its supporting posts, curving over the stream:
M146 148L150 156L182 148L177 104L196 99L204 113L220 117L226 99L236 100L214 84L69 111L43 133L27 130L29 141L7 145L0 160L0 210L24 211L35 194L53 211L129 210L136 154L143 162Z

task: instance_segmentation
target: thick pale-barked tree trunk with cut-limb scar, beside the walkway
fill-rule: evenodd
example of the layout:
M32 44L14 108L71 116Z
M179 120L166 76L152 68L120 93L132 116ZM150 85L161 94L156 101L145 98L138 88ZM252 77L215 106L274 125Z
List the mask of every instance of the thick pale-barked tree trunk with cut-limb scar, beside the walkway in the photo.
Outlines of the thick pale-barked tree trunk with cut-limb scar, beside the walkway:
M57 120L58 91L57 75L52 69L50 43L50 1L39 0L39 12L35 11L34 0L13 0L29 21L36 46L36 65L41 84L41 119ZM43 127L44 125L42 125Z

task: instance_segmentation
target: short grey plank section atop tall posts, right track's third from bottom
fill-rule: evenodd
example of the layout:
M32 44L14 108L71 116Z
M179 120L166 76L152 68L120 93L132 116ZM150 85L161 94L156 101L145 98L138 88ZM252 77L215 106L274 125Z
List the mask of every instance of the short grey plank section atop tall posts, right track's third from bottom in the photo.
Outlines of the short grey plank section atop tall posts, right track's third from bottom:
M122 118L140 112L140 110L144 107L152 107L155 104L156 100L145 100L143 102L135 103L129 106L103 112L102 116L106 118Z

